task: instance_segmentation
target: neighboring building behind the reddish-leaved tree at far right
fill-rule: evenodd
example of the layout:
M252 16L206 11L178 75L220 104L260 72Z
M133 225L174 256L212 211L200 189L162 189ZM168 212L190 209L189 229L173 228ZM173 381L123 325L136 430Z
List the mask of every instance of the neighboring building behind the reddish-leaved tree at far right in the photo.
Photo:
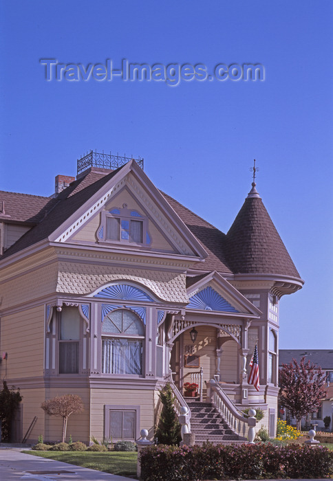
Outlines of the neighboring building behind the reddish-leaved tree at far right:
M323 429L323 418L330 416L331 422L329 429L332 430L333 423L333 349L279 349L279 368L282 364L290 364L292 359L300 363L302 358L305 362L315 364L326 372L327 393L325 399L321 403L321 407L316 412L310 414L308 423L318 425L318 429ZM286 418L286 412L283 413L283 418ZM304 424L307 420L303 420ZM296 424L296 421L294 421Z

